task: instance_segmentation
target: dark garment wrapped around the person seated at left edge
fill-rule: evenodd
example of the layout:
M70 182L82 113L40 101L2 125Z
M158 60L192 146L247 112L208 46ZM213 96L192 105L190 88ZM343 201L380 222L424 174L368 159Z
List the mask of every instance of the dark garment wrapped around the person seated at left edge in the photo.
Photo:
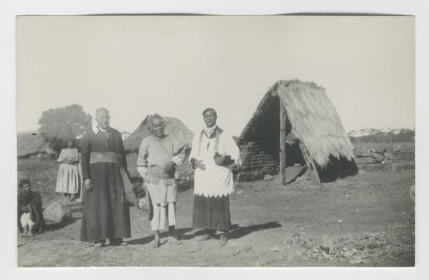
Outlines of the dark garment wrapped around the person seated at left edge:
M43 209L42 209L42 199L41 196L34 192L30 191L30 193L18 193L17 197L18 204L18 229L22 232L22 225L20 218L24 211L22 211L22 207L29 206L29 213L31 221L34 222L34 228L32 233L40 233L43 232L46 228L45 219L43 218ZM27 212L27 211L25 211Z

